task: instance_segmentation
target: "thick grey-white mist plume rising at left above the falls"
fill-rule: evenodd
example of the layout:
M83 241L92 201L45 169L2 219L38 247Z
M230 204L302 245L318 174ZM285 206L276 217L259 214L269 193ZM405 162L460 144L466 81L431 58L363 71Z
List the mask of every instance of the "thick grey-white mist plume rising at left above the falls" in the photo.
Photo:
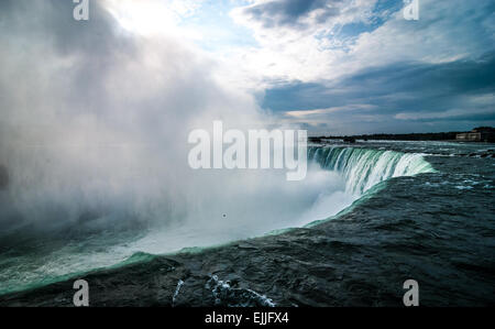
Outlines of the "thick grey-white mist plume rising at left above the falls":
M183 218L205 201L201 185L223 188L191 173L188 132L258 122L250 95L215 80L211 58L125 31L105 6L91 1L78 22L72 1L0 4L0 222Z

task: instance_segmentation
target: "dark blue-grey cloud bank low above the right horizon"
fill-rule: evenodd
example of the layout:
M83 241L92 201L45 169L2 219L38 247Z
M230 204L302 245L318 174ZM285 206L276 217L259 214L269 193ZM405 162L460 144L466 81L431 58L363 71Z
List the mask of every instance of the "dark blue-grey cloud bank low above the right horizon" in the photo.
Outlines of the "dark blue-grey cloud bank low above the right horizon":
M425 122L493 124L494 77L495 53L476 61L398 63L339 80L268 89L263 106L312 124L328 123L334 133L399 132L405 121L416 121L409 124L416 131L446 129ZM459 128L459 122L453 127Z

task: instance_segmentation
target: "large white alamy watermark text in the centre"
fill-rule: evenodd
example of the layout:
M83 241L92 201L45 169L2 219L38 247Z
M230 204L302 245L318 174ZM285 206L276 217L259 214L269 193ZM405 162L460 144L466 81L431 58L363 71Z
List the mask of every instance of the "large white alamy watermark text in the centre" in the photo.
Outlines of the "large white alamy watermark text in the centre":
M202 129L189 133L188 143L196 145L188 163L193 169L286 169L287 180L301 180L308 167L307 142L306 130L249 130L246 136L237 129L223 132L222 121L213 121L212 138Z

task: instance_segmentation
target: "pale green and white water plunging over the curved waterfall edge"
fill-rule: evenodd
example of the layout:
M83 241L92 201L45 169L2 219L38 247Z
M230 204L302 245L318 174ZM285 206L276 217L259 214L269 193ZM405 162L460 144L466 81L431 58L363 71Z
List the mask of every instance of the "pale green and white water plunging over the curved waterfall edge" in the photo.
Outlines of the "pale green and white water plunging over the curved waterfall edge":
M77 240L47 237L32 242L37 243L34 246L22 245L26 239L13 242L6 248L9 252L0 253L0 294L142 259L144 253L170 253L302 227L337 215L388 178L433 171L421 154L343 146L310 146L308 160L306 179L296 183L287 183L285 173L223 173L221 180L215 180L223 185L209 187L202 202L189 205L184 218L173 218L170 223L152 226L138 234L135 229L116 232L107 226L99 233L85 235L78 227L75 229L81 233ZM117 207L78 224L105 226L108 218L113 218L111 224L116 226L119 216ZM164 222L167 216L162 216ZM18 249L23 250L22 257L11 256Z

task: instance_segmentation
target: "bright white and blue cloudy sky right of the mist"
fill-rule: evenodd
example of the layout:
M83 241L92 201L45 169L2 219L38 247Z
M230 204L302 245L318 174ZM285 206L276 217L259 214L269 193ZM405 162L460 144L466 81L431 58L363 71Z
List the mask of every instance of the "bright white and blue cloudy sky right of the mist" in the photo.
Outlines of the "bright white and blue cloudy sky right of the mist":
M174 39L208 58L216 81L252 94L272 120L293 120L311 129L352 119L360 130L358 122L366 118L361 125L365 130L370 116L386 120L389 127L417 122L418 116L447 120L453 114L449 111L452 100L442 97L439 86L419 95L419 88L406 87L407 81L422 81L439 70L446 75L444 84L452 84L447 67L471 77L465 70L477 70L495 52L493 4L487 0L476 4L421 0L421 18L415 22L404 19L403 0L105 3L125 31ZM394 83L394 75L404 75L404 79ZM402 89L384 95L385 86ZM486 91L476 92L458 94L459 111L486 111L486 105L473 100L486 97ZM287 99L294 101L287 103Z

